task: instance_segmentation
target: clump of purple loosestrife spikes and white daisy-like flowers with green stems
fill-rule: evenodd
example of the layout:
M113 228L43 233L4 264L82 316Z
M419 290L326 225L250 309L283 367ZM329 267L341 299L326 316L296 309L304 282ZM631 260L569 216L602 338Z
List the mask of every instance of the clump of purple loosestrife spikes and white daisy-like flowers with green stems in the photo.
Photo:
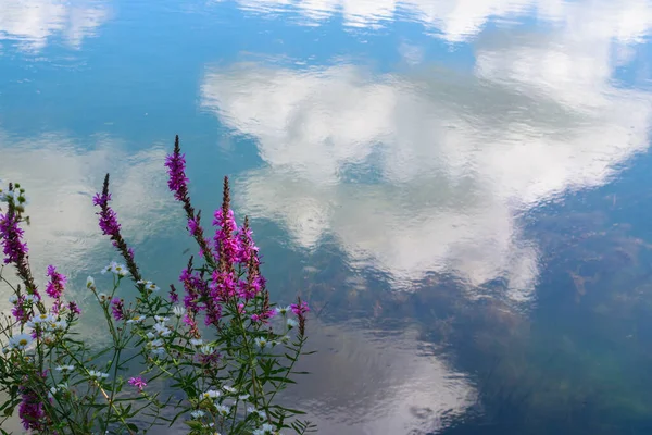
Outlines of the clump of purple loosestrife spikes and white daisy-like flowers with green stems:
M308 304L300 298L288 307L271 303L249 221L238 227L230 209L228 178L209 238L190 202L178 136L165 166L201 264L190 257L179 277L183 294L171 285L163 295L146 279L110 206L106 175L93 203L102 233L124 263L102 270L110 279L86 282L103 314L106 346L90 345L79 333L80 309L68 300L66 277L52 265L48 298L41 296L21 226L29 223L25 189L10 184L0 190L7 202L0 210L4 263L18 277L15 284L0 269L0 283L12 291L11 314L0 315L5 337L0 414L9 418L17 407L26 431L49 434L147 433L178 422L190 434L313 432L312 423L298 419L301 411L275 401L301 373L294 370L299 358L309 353L303 351ZM128 281L136 289L131 297L121 291Z

